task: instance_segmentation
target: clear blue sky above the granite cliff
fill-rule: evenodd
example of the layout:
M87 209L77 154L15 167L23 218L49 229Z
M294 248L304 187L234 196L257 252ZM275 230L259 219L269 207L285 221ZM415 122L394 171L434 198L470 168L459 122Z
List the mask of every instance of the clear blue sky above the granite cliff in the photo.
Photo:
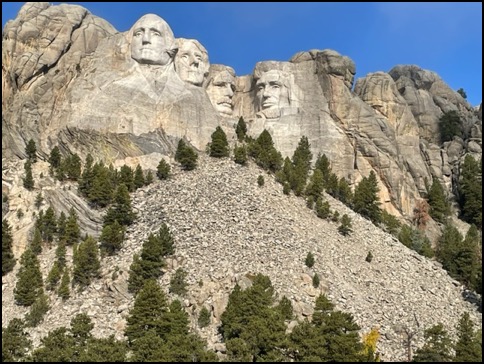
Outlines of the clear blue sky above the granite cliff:
M2 2L2 28L23 3ZM59 4L59 3L54 3ZM415 64L436 72L472 105L482 100L482 3L71 3L128 30L142 15L165 19L176 37L195 38L211 63L252 73L258 61L334 49L356 78Z

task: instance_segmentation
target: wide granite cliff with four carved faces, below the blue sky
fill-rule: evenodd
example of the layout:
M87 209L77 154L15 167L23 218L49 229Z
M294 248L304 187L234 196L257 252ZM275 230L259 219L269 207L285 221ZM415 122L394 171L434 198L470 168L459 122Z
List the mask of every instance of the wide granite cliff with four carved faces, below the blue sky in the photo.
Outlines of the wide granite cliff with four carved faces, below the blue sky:
M326 154L350 183L375 171L383 207L410 216L425 181L438 178L450 193L462 157L482 153L481 117L417 66L354 85L354 62L333 50L258 62L245 76L209 55L155 14L120 33L77 5L27 3L3 34L3 155L25 157L32 138L44 157L56 145L106 162L154 154L154 168L180 138L204 150L221 126L235 141L243 117L251 136L267 129L283 156L307 136L313 156ZM441 146L438 121L449 110L469 138Z

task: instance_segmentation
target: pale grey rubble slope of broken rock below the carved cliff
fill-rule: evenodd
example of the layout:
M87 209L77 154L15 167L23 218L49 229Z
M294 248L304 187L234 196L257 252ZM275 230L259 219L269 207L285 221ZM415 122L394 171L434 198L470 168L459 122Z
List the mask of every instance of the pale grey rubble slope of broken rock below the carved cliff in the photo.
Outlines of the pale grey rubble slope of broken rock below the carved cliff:
M187 173L176 167L171 179L134 193L138 219L129 227L122 249L103 258L102 277L85 291L73 291L65 302L51 294L51 310L30 331L35 342L47 331L68 325L79 312L93 319L95 335L121 338L134 302L127 293L129 265L148 234L157 232L163 222L175 239L175 255L168 260L161 285L174 298L168 293L171 276L179 267L188 272L190 293L182 300L193 329L212 348L223 350L216 326L230 291L236 282L249 285L248 277L255 273L270 277L279 297L292 301L299 319L312 315L315 298L324 292L338 309L355 317L362 332L379 327L378 350L384 361L405 359L403 328L416 331L415 349L423 342L425 328L442 322L453 333L463 312L469 312L480 327L477 306L464 299L467 291L438 263L406 248L326 195L332 210L352 219L353 232L340 235L338 223L317 218L304 199L284 195L273 177L266 175L265 185L258 187L260 173L253 163L242 167L202 155L196 170ZM44 248L40 256L44 276L54 251ZM309 251L315 256L311 269L304 263ZM366 262L369 251L373 260ZM68 262L72 262L70 250ZM3 326L27 310L13 304L15 272L2 280ZM312 287L314 273L321 278L318 289ZM200 330L196 322L202 306L210 309L212 324Z

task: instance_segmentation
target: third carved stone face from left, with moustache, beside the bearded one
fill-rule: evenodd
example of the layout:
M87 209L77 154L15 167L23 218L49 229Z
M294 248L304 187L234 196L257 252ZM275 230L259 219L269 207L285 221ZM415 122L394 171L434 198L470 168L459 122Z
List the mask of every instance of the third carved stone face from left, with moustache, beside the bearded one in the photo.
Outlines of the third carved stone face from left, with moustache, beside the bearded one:
M215 109L223 115L231 116L234 105L235 77L228 71L218 73L207 86L207 93Z

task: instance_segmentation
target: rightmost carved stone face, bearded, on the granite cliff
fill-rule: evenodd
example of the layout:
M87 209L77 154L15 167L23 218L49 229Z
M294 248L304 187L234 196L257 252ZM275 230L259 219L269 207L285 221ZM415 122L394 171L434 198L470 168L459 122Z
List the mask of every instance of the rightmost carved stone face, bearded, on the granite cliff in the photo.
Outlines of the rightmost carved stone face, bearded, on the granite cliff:
M289 106L289 89L286 83L284 75L278 70L262 74L256 82L259 111Z

